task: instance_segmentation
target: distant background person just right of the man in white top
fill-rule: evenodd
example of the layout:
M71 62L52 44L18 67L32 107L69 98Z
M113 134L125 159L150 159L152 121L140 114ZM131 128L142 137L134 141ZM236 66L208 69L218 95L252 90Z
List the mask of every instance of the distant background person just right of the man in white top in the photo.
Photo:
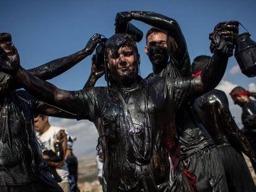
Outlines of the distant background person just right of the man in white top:
M80 192L79 188L77 187L78 161L77 157L75 157L72 152L72 146L75 140L77 140L75 136L67 134L66 163L69 169L70 192Z

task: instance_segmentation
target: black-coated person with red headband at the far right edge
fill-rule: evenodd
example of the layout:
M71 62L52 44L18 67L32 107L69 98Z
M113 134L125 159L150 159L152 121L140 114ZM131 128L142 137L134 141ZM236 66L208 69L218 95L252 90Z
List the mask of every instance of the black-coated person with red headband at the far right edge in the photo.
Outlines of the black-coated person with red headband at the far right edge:
M230 93L234 104L242 107L242 132L249 140L250 145L256 152L256 101L250 99L250 97L256 98L256 93L246 91L241 86L236 86ZM254 159L250 159L254 172L256 172L256 162Z

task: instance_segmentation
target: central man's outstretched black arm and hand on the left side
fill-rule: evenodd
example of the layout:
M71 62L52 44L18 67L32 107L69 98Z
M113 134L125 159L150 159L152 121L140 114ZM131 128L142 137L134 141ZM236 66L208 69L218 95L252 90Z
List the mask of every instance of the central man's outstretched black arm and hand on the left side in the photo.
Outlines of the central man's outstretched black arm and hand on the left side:
M0 69L11 74L30 94L53 106L79 114L82 99L76 98L72 91L60 90L56 86L37 78L19 65L19 54L13 47L11 54L0 49Z

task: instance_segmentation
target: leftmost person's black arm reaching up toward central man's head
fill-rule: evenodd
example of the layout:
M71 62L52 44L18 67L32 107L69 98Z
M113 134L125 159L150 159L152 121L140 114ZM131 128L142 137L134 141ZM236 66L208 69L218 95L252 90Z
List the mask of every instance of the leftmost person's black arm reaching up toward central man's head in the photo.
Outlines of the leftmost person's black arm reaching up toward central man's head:
M61 73L66 72L66 70L69 70L71 67L82 61L82 59L92 54L99 40L100 35L95 34L92 36L92 38L90 38L85 48L83 48L81 51L75 52L70 56L55 59L54 61L50 61L46 64L40 65L39 67L35 67L33 69L29 69L27 71L43 80L54 78ZM19 88L21 88L19 83L17 83L17 81L15 81L12 76L8 75L8 77L5 79L5 82L1 85L0 92L6 93L8 91L16 90Z

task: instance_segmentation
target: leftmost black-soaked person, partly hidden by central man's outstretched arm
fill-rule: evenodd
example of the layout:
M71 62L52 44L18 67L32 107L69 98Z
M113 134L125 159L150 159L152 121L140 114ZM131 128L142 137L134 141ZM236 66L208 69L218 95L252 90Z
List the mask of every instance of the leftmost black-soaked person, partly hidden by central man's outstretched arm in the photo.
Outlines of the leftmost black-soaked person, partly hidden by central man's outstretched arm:
M98 38L100 36L93 36L84 51L41 65L30 72L41 78L53 78L90 53ZM19 61L9 33L0 33L0 45L1 64ZM11 75L0 72L0 191L62 191L43 161L33 117L45 114L75 119L76 116L45 104L26 91L13 91L19 87Z

